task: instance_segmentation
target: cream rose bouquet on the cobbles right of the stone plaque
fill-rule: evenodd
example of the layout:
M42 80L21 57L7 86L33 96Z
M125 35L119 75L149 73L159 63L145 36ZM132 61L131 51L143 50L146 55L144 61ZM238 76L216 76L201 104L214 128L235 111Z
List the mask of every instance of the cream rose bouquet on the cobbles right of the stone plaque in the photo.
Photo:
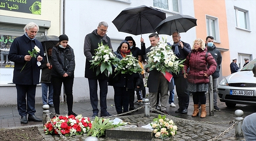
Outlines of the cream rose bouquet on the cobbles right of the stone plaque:
M154 129L153 132L157 138L165 139L177 134L177 126L174 125L173 120L166 118L166 116L158 115L158 118L154 118L150 125Z

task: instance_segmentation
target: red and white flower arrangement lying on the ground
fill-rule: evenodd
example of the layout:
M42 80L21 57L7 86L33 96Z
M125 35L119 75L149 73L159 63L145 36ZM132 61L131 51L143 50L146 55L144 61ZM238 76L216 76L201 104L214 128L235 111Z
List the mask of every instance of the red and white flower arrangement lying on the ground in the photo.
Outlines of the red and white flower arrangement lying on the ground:
M89 117L82 117L82 115L78 116L59 116L54 117L51 121L47 121L44 125L45 134L57 134L58 132L52 126L61 132L62 135L72 136L72 135L82 135L87 133L91 127L91 121Z

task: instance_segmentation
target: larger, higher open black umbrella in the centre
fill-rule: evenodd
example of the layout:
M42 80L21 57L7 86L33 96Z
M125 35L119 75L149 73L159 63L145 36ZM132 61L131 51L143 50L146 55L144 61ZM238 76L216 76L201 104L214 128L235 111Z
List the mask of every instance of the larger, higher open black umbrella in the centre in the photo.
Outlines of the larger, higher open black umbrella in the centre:
M141 5L124 9L112 23L120 32L142 36L146 33L155 33L156 26L165 18L164 12Z

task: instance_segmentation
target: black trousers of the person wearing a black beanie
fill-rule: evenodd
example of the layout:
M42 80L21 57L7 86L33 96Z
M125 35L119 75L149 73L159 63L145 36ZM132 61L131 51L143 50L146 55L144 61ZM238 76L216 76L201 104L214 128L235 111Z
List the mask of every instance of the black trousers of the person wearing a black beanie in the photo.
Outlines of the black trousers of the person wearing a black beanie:
M72 112L73 108L73 83L74 78L70 77L54 77L52 76L52 85L53 85L53 104L56 114L59 114L59 102L60 102L60 93L62 83L64 85L66 101L68 106L68 111Z

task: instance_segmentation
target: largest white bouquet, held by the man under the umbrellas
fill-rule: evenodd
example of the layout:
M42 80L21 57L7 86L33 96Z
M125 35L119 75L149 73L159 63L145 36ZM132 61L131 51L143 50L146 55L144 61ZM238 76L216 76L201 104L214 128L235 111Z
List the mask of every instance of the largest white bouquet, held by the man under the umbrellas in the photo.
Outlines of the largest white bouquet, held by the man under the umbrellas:
M178 60L175 56L171 46L167 44L167 37L160 41L156 47L151 47L150 52L147 53L148 60L145 67L150 67L149 71L156 69L161 71L164 75L166 72L173 72L177 74L184 65L186 60Z

